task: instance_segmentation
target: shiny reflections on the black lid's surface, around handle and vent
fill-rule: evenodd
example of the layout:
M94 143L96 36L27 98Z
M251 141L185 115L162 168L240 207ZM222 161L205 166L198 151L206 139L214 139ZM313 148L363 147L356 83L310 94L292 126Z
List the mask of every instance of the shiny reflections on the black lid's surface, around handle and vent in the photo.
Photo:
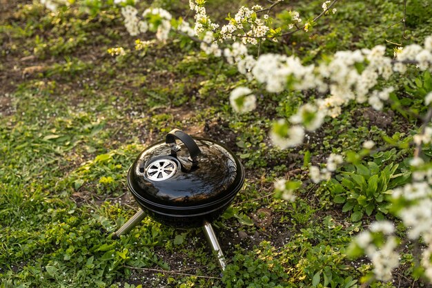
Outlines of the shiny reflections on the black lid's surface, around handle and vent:
M192 169L188 151L183 144L177 152L181 169L163 181L152 181L139 172L135 163L133 185L141 197L160 204L193 205L217 200L238 186L242 175L237 173L237 163L226 148L208 140L196 140L202 153L198 156L198 166ZM170 155L170 147L161 143L148 148L137 162L153 162L152 158ZM138 189L137 189L138 188Z

